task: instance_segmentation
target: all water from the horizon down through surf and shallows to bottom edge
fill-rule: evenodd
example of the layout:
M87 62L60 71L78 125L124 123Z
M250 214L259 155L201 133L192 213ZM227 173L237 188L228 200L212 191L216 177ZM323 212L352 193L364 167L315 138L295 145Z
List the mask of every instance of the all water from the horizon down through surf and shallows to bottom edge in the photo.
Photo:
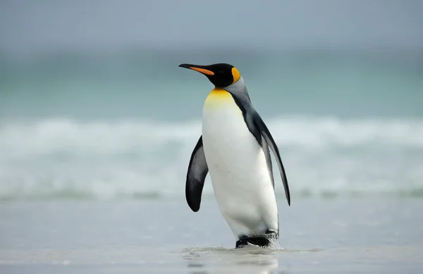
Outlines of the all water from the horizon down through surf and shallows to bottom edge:
M423 51L0 54L1 273L420 273ZM212 85L232 63L286 168L282 250L233 249L209 177L185 202Z

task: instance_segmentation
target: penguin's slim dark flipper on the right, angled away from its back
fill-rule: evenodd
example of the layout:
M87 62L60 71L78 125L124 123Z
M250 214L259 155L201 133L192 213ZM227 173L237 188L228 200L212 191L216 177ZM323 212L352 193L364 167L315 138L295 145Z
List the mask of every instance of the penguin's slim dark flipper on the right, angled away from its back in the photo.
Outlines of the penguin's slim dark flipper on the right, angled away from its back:
M285 189L285 197L286 197L286 200L288 201L288 205L290 206L290 193L289 193L289 187L288 187L288 179L286 178L285 168L283 168L283 163L281 160L281 155L279 154L278 146L276 146L276 143L273 137L271 136L269 129L267 128L262 117L260 117L257 111L255 111L254 109L251 109L249 113L247 113L247 119L245 120L247 121L247 127L252 132L257 132L257 130L251 130L251 127L254 127L253 125L255 125L255 127L259 130L260 135L262 135L264 139L266 140L266 143L269 145L271 151L273 151L274 156L276 158L276 162L278 163L279 171L281 173L283 188ZM251 124L249 125L249 123L253 123L253 125Z

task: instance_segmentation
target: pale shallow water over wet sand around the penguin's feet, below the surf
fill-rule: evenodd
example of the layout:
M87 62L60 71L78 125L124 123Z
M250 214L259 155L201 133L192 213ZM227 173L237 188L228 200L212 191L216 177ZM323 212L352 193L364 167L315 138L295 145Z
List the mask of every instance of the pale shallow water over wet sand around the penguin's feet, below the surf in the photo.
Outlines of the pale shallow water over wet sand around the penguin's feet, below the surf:
M10 201L1 273L420 273L420 199L279 200L283 250L233 249L214 199Z

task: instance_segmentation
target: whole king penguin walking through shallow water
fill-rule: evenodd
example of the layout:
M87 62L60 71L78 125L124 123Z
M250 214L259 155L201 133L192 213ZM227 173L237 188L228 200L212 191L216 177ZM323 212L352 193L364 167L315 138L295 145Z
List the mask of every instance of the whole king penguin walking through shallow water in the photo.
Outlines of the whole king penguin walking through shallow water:
M274 154L290 206L290 192L278 147L255 110L240 72L227 63L180 64L202 73L214 85L204 101L202 135L192 151L185 197L200 210L210 174L217 204L235 237L235 248L270 248L278 242L279 220L269 147Z

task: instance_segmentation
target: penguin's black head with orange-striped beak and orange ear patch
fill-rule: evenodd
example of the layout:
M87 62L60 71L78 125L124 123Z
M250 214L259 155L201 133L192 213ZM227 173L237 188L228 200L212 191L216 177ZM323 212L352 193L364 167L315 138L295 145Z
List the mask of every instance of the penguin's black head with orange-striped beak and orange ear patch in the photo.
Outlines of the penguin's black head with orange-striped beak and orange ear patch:
M215 63L208 66L183 63L179 66L181 68L196 70L199 73L206 75L210 82L218 88L228 87L238 81L241 77L239 71L234 66L227 63Z

